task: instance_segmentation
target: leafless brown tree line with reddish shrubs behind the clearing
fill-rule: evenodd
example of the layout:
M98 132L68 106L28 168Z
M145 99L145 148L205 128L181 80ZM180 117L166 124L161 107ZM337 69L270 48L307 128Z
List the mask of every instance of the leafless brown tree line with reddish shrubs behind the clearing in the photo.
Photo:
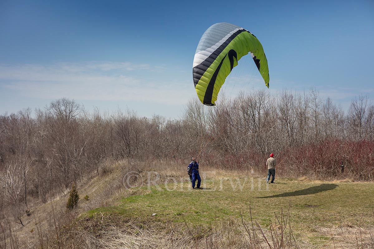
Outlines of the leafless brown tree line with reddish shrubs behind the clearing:
M373 180L373 138L368 95L344 110L315 88L223 96L215 107L191 100L179 119L132 110L89 113L62 98L34 112L0 115L0 210L13 205L16 212L30 199L46 203L51 193L99 174L109 159L186 164L194 155L205 165L260 171L274 153L285 176Z

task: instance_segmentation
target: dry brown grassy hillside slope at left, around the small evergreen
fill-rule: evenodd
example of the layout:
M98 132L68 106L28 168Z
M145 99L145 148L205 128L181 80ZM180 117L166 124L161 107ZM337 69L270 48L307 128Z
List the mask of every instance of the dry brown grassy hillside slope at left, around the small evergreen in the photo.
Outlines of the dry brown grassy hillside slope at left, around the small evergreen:
M8 248L12 242L12 237L17 239L14 248L33 248L34 246L43 247L40 239L44 241L50 234L54 234L55 227L59 228L64 224L71 222L83 212L99 207L107 206L113 203L116 195L126 196L123 188L123 171L128 168L127 162L104 162L102 168L105 173L100 171L99 175L88 177L86 180L77 184L80 194L79 205L73 211L66 210L68 198L68 189L61 189L60 194L55 195L46 204L36 202L30 203L30 216L26 214L22 217L24 226L13 222L12 218L1 221L2 225L7 227L7 233L3 233L5 240L0 241L0 248ZM64 190L64 191L63 191ZM83 199L89 196L89 200ZM10 212L6 210L5 212ZM10 227L10 230L9 230ZM12 236L10 236L10 231ZM5 236L4 236L5 234ZM43 237L43 238L41 238ZM14 240L14 239L13 239ZM7 247L5 247L7 245Z

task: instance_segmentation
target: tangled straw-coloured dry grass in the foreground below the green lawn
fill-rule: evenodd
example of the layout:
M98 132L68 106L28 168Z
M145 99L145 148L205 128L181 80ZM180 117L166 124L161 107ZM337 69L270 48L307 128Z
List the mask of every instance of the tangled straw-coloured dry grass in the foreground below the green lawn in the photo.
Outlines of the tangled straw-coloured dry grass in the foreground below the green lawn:
M217 221L209 231L199 231L186 224L137 224L121 217L97 215L86 218L63 233L64 248L81 249L299 249L316 248L298 241L288 221L289 213L275 215L270 230L256 221L228 218Z

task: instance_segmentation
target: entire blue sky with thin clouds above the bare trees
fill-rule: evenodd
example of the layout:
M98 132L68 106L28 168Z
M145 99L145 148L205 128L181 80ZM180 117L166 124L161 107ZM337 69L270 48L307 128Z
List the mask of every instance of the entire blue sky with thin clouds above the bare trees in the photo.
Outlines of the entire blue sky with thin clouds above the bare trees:
M316 87L345 109L360 94L373 103L371 0L0 0L0 113L68 97L89 111L130 108L140 116L177 118L197 98L193 56L203 32L217 22L260 40L270 93ZM222 93L267 90L246 57Z

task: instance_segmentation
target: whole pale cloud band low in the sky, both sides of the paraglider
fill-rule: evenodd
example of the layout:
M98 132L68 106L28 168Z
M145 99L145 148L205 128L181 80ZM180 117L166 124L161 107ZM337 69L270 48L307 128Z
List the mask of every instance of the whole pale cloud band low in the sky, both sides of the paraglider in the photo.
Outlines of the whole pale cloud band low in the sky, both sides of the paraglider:
M13 96L12 99L28 99L29 102L24 103L25 107L33 106L32 101L37 99L47 103L53 99L68 97L79 101L88 100L98 106L102 105L100 101L115 101L132 105L133 108L148 109L152 113L170 110L174 106L175 112L176 106L181 108L189 100L196 98L191 78L190 72L180 72L177 67L173 70L166 66L137 65L130 62L3 64L0 65L0 94ZM372 88L364 88L363 91L355 86L315 87L322 100L330 97L344 109L349 107L350 100L362 93L369 93L373 97ZM301 95L309 94L309 88L304 89L297 83L277 79L271 79L270 88L267 89L257 71L234 72L227 77L221 88L218 102L223 96L234 98L241 91L245 93L261 89L274 95L283 90ZM8 103L2 103L3 112L10 110Z

